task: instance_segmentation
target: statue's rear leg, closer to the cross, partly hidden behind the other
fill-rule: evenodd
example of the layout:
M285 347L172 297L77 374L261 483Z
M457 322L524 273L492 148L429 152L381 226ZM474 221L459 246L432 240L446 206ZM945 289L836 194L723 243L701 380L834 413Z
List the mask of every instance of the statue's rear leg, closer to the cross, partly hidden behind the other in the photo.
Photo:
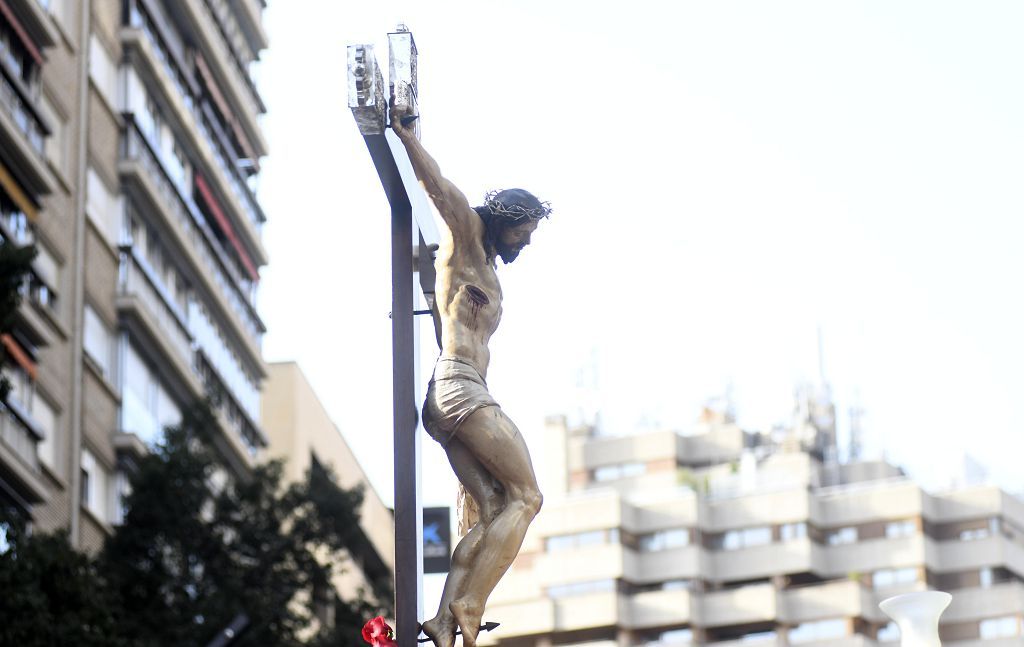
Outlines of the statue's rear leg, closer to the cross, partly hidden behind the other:
M480 547L484 528L505 505L505 493L501 485L458 437L452 439L445 450L459 481L480 507L480 520L459 542L452 555L452 569L444 579L444 592L441 594L437 615L423 623L423 633L437 647L452 647L455 644L456 620L449 604L462 595L463 584Z

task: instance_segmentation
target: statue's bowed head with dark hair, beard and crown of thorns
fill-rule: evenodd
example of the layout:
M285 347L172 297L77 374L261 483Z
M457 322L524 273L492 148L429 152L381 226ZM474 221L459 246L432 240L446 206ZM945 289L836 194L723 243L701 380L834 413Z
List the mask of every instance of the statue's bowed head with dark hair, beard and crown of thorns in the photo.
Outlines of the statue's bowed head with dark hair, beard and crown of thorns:
M486 244L506 263L529 245L529 236L541 220L551 214L551 205L521 188L490 191L475 211L486 227Z

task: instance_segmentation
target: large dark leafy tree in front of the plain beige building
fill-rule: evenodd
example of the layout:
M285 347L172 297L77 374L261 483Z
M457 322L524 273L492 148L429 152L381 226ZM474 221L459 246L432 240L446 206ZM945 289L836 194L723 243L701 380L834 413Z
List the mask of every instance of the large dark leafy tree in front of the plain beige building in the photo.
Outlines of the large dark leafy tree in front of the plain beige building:
M232 646L310 644L308 598L358 536L361 492L323 470L284 486L280 463L218 486L214 425L209 406L195 407L138 464L124 523L99 557L120 626L138 644L203 646L245 613L250 626ZM390 599L386 583L374 594ZM313 640L357 645L379 610L336 602L334 631Z

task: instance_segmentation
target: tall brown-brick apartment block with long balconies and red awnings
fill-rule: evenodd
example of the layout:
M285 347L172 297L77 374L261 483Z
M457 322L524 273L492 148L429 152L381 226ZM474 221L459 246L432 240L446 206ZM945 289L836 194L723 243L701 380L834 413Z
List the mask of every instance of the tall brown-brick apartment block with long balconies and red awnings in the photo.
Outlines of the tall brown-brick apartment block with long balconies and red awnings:
M217 396L229 472L267 444L255 198L260 0L0 0L0 235L39 256L4 372L0 498L97 548L126 474Z

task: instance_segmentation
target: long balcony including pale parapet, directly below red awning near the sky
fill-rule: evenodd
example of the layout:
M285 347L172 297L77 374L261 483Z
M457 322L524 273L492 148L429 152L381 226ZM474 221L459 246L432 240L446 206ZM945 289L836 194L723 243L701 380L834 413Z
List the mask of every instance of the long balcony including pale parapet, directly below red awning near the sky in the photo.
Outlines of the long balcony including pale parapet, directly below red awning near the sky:
M238 281L231 277L229 264L221 260L226 252L196 205L171 181L131 116L126 119L128 125L119 163L122 179L155 213L162 214L176 247L183 251L193 267L197 287L210 295L223 314L221 318L229 322L233 337L241 342L240 348L246 351L249 363L259 369L260 378L265 377L260 352L263 323L245 300Z

